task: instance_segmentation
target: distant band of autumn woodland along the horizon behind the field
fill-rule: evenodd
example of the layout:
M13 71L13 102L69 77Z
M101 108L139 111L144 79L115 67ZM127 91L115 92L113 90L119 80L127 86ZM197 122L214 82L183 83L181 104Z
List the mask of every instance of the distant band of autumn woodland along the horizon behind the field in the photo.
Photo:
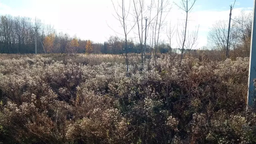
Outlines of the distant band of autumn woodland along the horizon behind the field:
M249 56L252 29L252 14L241 12L232 19L229 41L230 55L234 57ZM202 49L218 50L225 54L227 47L228 23L216 22L208 34L208 44ZM35 53L35 27L37 29L37 53L95 53L95 54L123 54L125 53L125 39L111 36L104 43L92 42L70 36L67 33L57 33L53 26L46 25L40 19L29 17L0 15L0 53ZM44 48L43 48L44 46ZM167 53L176 51L170 43L160 41L156 45L143 46L144 53ZM177 47L182 49L182 47ZM194 47L193 49L198 49ZM127 53L141 53L141 44L127 39ZM192 49L185 47L184 52ZM194 50L193 50L194 51Z

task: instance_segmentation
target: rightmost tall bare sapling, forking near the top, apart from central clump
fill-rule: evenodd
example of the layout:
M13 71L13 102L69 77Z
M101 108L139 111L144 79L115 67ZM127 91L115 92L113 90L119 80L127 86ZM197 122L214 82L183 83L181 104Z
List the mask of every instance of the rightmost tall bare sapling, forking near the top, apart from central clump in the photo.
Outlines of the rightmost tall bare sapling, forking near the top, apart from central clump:
M183 39L181 40L181 38L180 38L180 42L182 42L180 63L183 58L184 46L185 46L186 36L187 36L186 34L187 34L188 14L191 11L191 9L193 8L195 2L196 2L196 0L181 0L181 6L179 6L178 4L175 3L180 9L182 9L186 13L186 22L185 22L185 30L183 30ZM191 3L191 6L188 6L189 3Z

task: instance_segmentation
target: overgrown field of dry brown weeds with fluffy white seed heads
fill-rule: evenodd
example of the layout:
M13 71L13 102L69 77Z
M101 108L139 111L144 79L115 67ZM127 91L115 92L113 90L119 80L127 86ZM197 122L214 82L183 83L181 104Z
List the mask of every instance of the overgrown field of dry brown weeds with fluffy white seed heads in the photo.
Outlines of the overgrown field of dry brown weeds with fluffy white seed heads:
M249 58L0 55L0 143L256 143Z

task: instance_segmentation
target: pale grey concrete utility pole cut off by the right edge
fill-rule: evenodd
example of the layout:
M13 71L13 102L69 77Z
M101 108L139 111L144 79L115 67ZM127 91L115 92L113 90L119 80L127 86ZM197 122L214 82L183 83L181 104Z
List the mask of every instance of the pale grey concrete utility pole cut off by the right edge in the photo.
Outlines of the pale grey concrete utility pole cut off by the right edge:
M249 62L249 76L248 76L248 92L247 92L247 106L251 106L255 99L255 86L254 79L256 78L256 11L254 0L254 12L252 22L252 34L251 34L251 51Z

